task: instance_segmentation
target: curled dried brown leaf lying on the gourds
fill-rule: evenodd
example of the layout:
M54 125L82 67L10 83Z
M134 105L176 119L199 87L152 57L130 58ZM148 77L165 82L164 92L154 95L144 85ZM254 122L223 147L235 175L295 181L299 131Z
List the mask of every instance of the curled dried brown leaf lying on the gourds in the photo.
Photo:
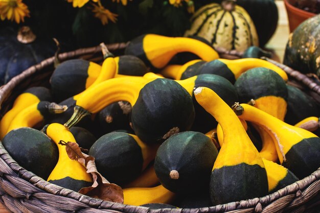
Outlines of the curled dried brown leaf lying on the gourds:
M110 183L98 172L94 157L81 152L77 143L70 141L65 143L63 140L60 140L60 144L66 146L66 153L71 159L78 160L78 162L84 165L87 173L92 175L94 180L92 186L81 188L79 193L106 201L123 203L122 188L117 184Z

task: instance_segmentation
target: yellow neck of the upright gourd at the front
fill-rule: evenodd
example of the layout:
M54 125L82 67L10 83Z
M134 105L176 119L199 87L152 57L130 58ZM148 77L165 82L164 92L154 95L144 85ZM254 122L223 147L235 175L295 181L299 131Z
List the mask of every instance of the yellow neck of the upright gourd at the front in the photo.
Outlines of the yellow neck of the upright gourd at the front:
M240 163L258 164L264 168L257 149L232 109L209 88L198 87L194 95L197 102L215 117L223 130L223 146L213 169Z

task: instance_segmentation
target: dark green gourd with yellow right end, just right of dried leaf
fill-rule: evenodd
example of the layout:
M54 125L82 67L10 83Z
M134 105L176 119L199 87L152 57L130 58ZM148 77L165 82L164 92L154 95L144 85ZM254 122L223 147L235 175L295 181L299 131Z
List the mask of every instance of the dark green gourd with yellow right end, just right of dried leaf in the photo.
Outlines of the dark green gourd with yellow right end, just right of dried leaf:
M110 132L90 148L100 174L119 185L133 181L154 160L159 145L146 145L136 135Z

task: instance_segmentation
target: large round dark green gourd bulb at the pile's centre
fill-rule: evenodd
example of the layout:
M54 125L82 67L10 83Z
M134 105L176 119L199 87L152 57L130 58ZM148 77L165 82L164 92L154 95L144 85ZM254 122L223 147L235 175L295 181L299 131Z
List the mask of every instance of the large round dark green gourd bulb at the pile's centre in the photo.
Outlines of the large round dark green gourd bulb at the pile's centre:
M162 143L174 133L190 130L193 121L190 94L169 79L146 84L131 112L133 130L145 143Z

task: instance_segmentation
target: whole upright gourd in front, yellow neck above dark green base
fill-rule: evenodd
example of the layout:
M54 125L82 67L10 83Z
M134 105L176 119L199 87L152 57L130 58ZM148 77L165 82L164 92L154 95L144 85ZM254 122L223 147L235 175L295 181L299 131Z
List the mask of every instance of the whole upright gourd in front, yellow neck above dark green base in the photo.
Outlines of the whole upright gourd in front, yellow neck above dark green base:
M265 196L268 181L264 163L237 115L209 88L198 87L194 94L224 133L223 146L211 174L213 205Z

